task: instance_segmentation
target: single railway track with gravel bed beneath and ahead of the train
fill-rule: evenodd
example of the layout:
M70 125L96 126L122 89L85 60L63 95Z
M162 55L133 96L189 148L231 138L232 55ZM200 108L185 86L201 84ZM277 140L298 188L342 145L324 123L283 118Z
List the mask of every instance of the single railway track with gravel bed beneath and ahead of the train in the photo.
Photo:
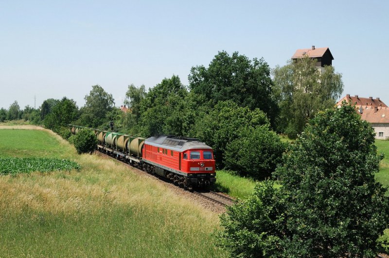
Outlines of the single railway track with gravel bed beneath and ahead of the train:
M103 152L103 151L98 151L96 150L97 153L99 154L102 154L104 156L107 156L111 159L114 159L114 160L117 160L117 161L122 161L124 164L126 164L127 166L130 166L131 168L134 168L136 170L138 170L139 172L142 172L150 177L155 177L155 178L158 178L172 186L176 186L172 181L164 178L164 177L159 177L158 175L154 175L154 174L150 174L150 173L147 173L146 171L144 171L143 169L141 169L140 167L138 166L134 166L133 164L130 164L128 161L126 160L123 160L123 159L120 159L120 158L117 158L115 155L109 155L108 153L106 152ZM199 191L193 191L193 192L190 192L190 191L186 191L184 190L182 187L179 187L179 186L176 186L177 188L180 188L182 189L182 191L185 191L187 193L191 193L191 194L195 194L197 196L201 196L202 198L208 200L208 201L211 201L213 204L215 205L218 205L218 206L223 206L223 207L226 207L226 206L230 206L234 203L234 200L231 199L230 197L227 197L225 195L222 195L222 194L218 194L216 192L213 192L213 191L208 191L208 190L199 190Z

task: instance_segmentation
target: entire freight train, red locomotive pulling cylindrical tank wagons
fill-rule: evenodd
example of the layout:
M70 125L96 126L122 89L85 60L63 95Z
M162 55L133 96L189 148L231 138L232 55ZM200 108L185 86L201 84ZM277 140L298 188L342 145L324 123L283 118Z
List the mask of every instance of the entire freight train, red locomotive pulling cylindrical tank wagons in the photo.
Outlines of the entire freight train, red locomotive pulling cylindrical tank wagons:
M81 126L71 126L77 133ZM92 129L99 141L97 150L140 166L150 174L168 178L192 190L216 182L212 148L194 138L159 135L150 138Z

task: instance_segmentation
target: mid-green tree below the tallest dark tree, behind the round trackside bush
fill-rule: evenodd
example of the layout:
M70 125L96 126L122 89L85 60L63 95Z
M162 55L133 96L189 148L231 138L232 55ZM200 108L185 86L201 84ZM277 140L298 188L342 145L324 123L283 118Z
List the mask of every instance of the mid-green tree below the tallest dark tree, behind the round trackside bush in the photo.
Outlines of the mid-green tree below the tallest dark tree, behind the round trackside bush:
M270 126L266 114L239 107L233 101L221 101L214 109L199 115L194 126L194 136L212 146L218 166L223 165L226 146L240 137L240 131L257 126Z

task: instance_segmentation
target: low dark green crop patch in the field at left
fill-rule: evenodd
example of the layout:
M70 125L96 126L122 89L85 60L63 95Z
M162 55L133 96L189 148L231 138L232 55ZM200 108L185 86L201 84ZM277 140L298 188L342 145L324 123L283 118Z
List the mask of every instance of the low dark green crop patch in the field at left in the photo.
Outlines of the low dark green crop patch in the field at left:
M70 171L72 169L80 170L81 166L74 161L55 158L0 158L0 174Z

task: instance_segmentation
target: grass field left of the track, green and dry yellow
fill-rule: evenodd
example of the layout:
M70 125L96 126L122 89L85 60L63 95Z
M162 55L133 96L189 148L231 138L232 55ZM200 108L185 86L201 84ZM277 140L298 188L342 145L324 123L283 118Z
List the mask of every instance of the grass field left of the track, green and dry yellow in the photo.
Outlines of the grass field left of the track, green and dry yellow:
M45 130L0 130L0 156L69 158L77 172L0 176L1 257L226 257L218 215L131 173L77 155Z

